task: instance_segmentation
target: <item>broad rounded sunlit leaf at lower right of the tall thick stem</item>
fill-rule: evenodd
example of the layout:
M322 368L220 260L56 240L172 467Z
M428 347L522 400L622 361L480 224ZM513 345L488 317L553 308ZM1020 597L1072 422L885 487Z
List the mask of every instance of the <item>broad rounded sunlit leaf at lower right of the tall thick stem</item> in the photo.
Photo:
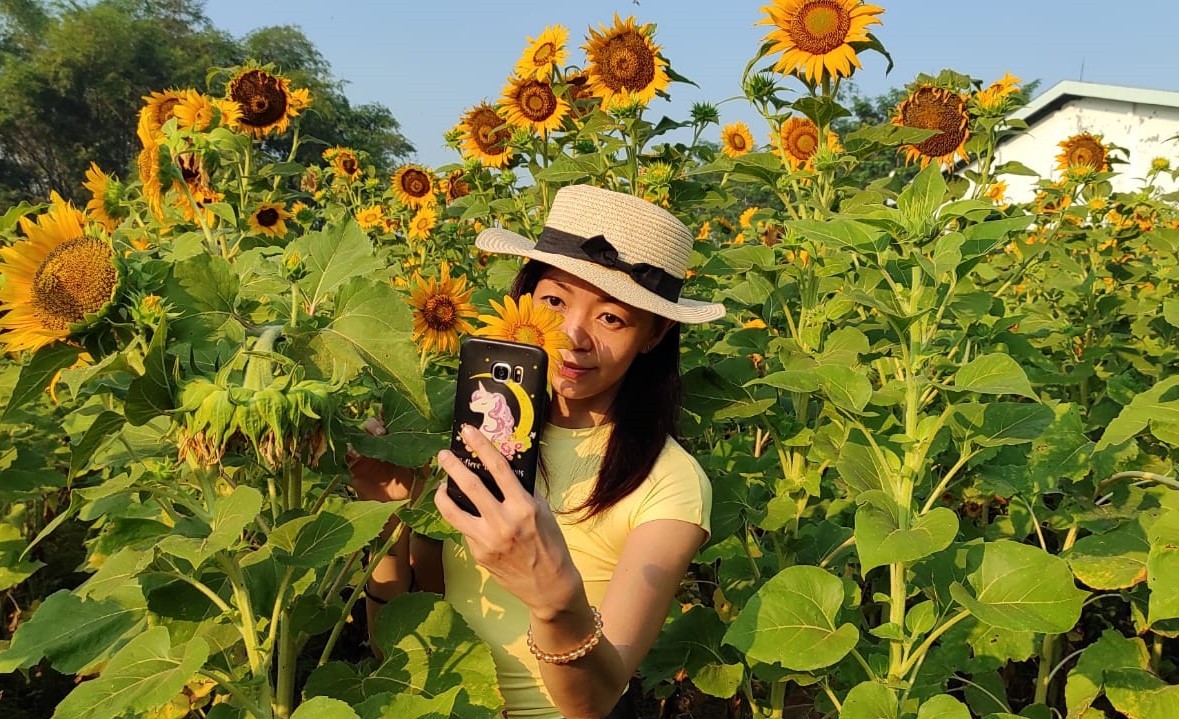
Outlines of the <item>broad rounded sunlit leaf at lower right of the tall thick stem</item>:
M1017 632L1061 634L1081 615L1087 592L1073 585L1065 560L1008 540L987 542L982 562L968 575L975 594L954 582L950 595L979 621Z

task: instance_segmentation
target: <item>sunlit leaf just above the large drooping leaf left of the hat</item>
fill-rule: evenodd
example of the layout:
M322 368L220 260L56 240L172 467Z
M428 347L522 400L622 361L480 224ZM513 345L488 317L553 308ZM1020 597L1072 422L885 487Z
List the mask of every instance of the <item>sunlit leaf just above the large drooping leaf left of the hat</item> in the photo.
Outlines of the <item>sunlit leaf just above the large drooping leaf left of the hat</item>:
M349 279L375 275L384 266L373 252L373 240L350 216L318 232L308 232L288 245L288 252L298 252L303 258L308 273L298 284L312 308Z

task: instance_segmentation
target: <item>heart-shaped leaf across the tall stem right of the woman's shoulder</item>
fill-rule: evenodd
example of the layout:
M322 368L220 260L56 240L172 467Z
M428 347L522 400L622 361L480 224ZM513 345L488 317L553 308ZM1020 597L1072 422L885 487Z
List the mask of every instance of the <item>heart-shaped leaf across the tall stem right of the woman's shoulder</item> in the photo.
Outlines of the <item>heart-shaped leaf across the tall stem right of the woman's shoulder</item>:
M872 495L887 501L861 504L856 510L856 552L865 574L876 567L914 562L941 552L957 536L957 515L946 507L937 507L918 516L910 528L901 529L900 509L891 497L884 493ZM858 499L863 501L865 496Z

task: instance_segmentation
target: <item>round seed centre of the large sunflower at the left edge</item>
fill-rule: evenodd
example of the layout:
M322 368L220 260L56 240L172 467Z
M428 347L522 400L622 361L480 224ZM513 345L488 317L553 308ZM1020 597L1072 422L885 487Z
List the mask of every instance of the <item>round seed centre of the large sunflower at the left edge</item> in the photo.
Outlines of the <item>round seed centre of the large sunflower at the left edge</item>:
M92 237L70 239L45 256L33 276L33 311L41 324L65 330L111 301L118 275L111 248Z

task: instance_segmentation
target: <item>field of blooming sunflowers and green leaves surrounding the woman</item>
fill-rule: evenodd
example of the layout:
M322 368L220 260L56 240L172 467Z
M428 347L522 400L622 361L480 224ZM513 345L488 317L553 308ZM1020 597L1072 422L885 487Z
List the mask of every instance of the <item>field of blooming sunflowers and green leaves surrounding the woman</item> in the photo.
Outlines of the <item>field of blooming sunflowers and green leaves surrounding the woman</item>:
M584 53L549 26L456 118L454 164L391 177L350 147L296 163L316 98L213 68L144 98L137 167L92 166L85 207L0 209L0 714L499 715L441 598L365 644L381 529L448 528L429 492L357 500L344 457L429 467L459 337L552 336L474 237L535 237L592 183L698 231L686 295L729 309L684 334L712 535L644 662L651 715L1174 717L1177 172L1114 192L1125 151L1076 134L1008 198L1012 75L920 75L845 130L883 20L763 8L733 78L762 127L656 119L686 78L653 25ZM864 180L878 158L908 169Z

